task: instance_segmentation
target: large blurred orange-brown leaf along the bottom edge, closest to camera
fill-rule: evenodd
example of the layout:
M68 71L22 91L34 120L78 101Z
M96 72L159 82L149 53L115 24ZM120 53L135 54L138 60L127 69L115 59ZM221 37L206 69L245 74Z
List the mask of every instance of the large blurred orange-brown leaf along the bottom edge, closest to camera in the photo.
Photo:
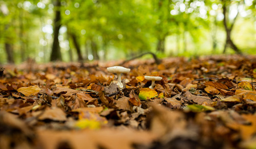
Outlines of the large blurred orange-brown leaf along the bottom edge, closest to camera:
M48 149L55 149L63 142L67 142L74 149L97 149L99 147L131 149L134 148L134 144L146 145L156 138L154 134L148 133L147 131L134 131L131 129L38 131L37 133L39 140L44 144L44 148Z

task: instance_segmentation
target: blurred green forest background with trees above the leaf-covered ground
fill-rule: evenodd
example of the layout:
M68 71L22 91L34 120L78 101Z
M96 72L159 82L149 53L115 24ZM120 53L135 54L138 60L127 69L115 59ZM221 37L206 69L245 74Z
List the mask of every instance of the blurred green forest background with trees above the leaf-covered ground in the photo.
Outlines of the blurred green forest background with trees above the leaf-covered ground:
M0 64L256 53L254 0L0 0Z

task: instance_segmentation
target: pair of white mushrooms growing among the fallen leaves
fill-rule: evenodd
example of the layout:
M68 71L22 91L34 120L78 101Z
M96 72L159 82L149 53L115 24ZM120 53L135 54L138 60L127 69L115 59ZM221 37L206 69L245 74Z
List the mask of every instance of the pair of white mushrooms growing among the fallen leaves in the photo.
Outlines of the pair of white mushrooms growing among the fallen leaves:
M123 84L121 82L121 73L127 73L130 72L129 68L124 68L121 66L114 66L114 67L109 67L107 68L108 72L111 73L117 73L117 86L119 86L119 88L123 88ZM154 89L155 86L155 81L160 81L162 80L162 77L155 77L155 76L144 76L144 78L146 80L150 80L152 81L151 85L149 86L149 88Z

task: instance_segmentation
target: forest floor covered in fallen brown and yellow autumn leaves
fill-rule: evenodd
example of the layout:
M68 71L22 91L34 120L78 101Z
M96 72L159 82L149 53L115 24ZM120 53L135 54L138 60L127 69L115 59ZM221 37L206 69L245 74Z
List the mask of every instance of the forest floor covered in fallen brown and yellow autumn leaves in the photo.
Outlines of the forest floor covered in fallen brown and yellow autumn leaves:
M118 64L3 66L1 148L256 148L256 56Z

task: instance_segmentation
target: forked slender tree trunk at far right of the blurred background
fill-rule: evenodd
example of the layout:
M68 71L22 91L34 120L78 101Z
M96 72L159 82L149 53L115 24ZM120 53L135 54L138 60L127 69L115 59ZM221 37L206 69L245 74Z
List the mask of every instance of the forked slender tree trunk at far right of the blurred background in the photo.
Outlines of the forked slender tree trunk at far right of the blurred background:
M226 43L225 43L225 46L224 46L224 50L223 50L223 53L226 52L226 48L228 47L228 45L230 46L230 48L232 48L236 53L238 54L242 54L241 50L237 48L237 46L233 43L232 39L231 39L231 31L232 31L232 28L234 26L234 23L236 22L236 19L237 19L237 15L236 17L234 18L234 21L232 22L231 26L228 27L228 21L227 21L227 18L226 18L226 4L224 3L223 7L223 15L224 15L224 19L223 19L223 24L224 24L224 27L225 27L225 31L226 31Z

